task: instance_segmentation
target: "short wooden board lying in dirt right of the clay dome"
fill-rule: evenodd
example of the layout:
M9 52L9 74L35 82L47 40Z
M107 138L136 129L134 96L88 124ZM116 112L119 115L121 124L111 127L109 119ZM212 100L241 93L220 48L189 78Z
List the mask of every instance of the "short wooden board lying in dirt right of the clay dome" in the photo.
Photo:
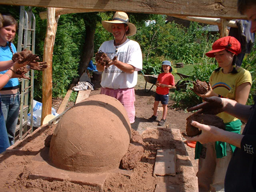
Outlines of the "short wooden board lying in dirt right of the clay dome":
M157 150L154 175L175 175L176 174L176 150L159 149Z

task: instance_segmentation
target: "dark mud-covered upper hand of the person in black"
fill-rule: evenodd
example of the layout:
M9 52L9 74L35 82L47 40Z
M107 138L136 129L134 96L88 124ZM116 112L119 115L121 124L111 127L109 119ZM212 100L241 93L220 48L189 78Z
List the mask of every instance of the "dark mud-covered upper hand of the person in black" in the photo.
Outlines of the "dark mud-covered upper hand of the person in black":
M196 113L204 113L204 114L211 114L217 115L225 111L225 105L223 104L223 100L220 97L203 97L202 98L205 102L198 104L192 108L188 108L187 111L196 111Z

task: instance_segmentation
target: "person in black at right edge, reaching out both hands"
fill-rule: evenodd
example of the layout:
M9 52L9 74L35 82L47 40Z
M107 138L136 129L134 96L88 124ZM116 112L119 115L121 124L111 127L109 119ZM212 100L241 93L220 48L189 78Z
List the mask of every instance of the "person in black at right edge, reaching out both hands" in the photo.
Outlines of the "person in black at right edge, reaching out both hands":
M256 1L238 0L237 6L238 11L250 20L251 33L256 33ZM214 115L225 111L246 122L244 131L237 134L193 121L191 125L201 129L202 133L193 138L186 138L188 141L199 141L202 144L223 141L236 146L225 175L225 191L256 191L256 96L253 106L216 96L205 97L204 100L205 102L189 108L188 111L200 109L198 113Z

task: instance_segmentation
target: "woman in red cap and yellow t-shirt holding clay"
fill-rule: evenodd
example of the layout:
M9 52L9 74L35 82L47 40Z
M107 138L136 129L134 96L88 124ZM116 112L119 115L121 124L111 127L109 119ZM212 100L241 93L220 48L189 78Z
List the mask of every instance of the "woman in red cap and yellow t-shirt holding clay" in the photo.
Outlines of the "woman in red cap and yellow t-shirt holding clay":
M215 58L219 68L212 72L210 90L200 97L218 96L236 100L246 104L252 76L248 70L236 66L236 56L241 52L239 41L233 36L225 36L214 42L212 50L206 56ZM241 121L236 117L222 112L217 116L223 119L226 131L240 134ZM228 163L236 146L225 142L196 143L195 159L198 161L199 191L220 191L224 189L225 174Z

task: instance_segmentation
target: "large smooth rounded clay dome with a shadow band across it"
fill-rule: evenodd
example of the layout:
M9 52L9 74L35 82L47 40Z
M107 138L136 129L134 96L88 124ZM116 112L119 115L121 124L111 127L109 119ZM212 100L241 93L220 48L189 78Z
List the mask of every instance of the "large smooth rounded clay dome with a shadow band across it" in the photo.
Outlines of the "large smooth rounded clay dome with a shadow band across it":
M84 173L118 168L131 139L124 106L113 97L93 95L62 116L49 156L63 170Z

